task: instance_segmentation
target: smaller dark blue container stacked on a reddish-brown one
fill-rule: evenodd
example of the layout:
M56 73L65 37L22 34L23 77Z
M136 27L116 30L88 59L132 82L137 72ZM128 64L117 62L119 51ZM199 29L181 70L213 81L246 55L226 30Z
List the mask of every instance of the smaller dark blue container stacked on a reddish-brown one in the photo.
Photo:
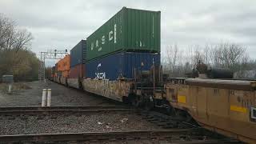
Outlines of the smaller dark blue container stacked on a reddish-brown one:
M70 50L70 67L86 62L86 40L81 40Z

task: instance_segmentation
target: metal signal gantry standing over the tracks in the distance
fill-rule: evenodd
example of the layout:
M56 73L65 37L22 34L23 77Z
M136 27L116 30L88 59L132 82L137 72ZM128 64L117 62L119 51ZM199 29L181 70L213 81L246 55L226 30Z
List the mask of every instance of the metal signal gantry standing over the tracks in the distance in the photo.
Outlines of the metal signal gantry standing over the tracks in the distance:
M46 79L46 59L62 59L66 54L68 54L67 50L47 50L46 52L40 52L38 80L44 81Z

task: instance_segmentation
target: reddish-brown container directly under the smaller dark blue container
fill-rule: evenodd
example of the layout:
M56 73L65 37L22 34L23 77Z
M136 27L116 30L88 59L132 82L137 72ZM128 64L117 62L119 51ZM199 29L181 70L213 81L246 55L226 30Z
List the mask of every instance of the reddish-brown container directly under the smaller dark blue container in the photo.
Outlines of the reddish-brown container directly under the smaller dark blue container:
M85 74L85 64L78 64L76 66L70 67L69 78L83 78L84 74Z

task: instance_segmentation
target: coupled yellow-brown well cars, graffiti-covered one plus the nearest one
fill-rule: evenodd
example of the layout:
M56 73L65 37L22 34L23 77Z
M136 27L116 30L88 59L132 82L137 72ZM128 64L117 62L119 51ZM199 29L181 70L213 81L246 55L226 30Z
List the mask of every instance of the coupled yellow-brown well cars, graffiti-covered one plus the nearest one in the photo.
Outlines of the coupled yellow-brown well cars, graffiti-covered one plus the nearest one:
M166 107L182 121L194 119L208 130L256 143L255 81L201 78L164 81L161 73L161 69L153 68L141 74L141 78L129 81L84 79L83 86L90 93L134 106Z

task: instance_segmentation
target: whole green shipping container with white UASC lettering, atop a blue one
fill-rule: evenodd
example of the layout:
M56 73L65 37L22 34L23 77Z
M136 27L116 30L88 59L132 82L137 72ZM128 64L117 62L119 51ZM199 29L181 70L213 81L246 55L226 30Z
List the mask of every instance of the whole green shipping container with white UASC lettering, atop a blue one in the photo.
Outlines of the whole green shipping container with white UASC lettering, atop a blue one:
M160 53L160 18L160 11L123 7L86 38L86 60L119 51Z

